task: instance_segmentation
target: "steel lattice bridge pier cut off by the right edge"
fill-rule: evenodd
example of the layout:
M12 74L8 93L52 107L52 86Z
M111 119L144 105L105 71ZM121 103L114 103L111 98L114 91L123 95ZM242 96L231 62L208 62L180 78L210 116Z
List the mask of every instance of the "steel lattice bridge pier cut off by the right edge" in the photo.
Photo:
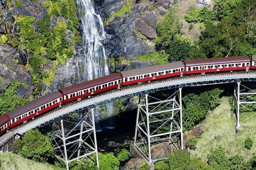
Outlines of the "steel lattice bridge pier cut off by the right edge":
M236 132L241 130L241 123L250 119L256 112L252 109L252 105L256 104L256 85L245 85L244 83L241 84L241 81L235 83L234 89L234 100L233 100L233 107L234 112L236 115ZM245 111L252 112L250 117L246 118L245 120L240 120L240 110L243 109Z

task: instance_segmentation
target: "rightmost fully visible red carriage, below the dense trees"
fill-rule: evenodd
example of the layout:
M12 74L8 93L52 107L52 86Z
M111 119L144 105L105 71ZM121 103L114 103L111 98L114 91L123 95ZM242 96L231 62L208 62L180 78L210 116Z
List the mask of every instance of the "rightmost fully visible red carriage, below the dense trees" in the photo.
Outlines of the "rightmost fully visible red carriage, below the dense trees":
M235 70L246 70L250 68L248 56L208 58L184 61L186 74L205 74L214 72L226 72Z

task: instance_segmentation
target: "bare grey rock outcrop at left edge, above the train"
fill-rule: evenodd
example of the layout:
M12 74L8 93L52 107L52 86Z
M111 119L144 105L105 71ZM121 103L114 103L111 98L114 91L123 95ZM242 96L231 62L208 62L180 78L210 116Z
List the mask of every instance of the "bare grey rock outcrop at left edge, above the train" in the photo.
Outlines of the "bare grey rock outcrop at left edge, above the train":
M12 80L20 81L26 85L30 85L31 76L23 66L14 62L14 59L22 58L20 53L12 46L0 44L0 89L6 90ZM21 94L28 95L28 91Z

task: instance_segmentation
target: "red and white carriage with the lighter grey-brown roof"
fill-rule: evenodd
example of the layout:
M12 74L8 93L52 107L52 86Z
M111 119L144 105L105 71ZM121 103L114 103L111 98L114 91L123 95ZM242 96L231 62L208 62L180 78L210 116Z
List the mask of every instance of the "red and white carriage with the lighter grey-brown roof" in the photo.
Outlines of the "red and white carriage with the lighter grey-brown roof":
M149 66L120 72L123 85L141 83L183 75L184 64L181 61L157 66Z

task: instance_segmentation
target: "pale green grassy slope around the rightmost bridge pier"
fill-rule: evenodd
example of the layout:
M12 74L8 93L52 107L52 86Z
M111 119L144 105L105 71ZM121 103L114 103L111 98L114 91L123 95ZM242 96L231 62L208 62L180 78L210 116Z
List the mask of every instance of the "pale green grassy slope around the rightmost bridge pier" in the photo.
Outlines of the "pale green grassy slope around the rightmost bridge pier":
M251 113L241 113L241 131L236 134L236 118L230 109L228 97L221 98L220 106L211 111L202 123L206 128L198 139L195 151L190 150L192 155L207 161L207 156L212 151L222 147L228 157L239 154L246 161L256 152L256 117L254 116L242 122ZM244 147L245 139L248 136L254 140L251 150L247 150Z

